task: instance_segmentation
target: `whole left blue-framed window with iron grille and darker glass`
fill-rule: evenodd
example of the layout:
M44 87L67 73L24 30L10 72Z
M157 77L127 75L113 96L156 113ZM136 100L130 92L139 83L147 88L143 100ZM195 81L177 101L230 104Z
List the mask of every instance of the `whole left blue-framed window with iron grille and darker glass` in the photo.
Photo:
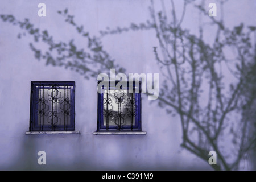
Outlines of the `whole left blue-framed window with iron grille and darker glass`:
M29 130L75 130L74 81L31 82Z

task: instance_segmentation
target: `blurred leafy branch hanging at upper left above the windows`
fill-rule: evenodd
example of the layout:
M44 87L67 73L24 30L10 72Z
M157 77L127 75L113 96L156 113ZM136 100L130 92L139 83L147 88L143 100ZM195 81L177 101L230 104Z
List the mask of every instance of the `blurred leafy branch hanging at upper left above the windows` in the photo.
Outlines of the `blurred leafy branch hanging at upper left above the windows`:
M0 15L0 17L4 22L12 23L24 30L23 33L18 35L18 38L30 34L34 36L35 42L47 44L48 50L42 52L42 50L35 47L34 43L30 43L30 48L34 51L36 59L46 60L46 65L50 64L75 70L87 79L97 77L102 71L109 73L110 69L113 67L115 67L117 72L125 72L125 69L114 64L114 60L102 48L100 39L95 36L90 36L89 32L84 31L83 26L77 25L73 20L73 15L69 15L67 9L58 11L58 13L63 15L65 22L76 28L77 32L85 38L88 42L86 50L84 50L84 48L77 48L73 39L69 40L69 42L55 42L53 37L48 34L47 30L40 31L39 28L34 28L34 25L30 23L28 19L21 22L13 15Z

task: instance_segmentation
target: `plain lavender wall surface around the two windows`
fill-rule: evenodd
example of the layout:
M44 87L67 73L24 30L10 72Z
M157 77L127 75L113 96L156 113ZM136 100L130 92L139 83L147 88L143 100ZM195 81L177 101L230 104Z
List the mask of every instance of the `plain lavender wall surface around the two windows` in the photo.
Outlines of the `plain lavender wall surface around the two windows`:
M46 3L46 17L38 16L40 2ZM182 3L175 3L180 14ZM77 23L98 36L106 27L144 22L150 16L149 5L150 1L1 1L0 14L28 18L35 27L47 29L55 40L75 39L82 48L86 43L57 10L68 8ZM255 24L254 9L253 0L232 1L226 6L226 20L230 26L238 22ZM187 15L184 26L196 32L198 14L189 7ZM211 169L180 147L179 118L170 117L147 97L142 100L146 135L93 135L97 127L97 77L85 80L76 72L35 60L28 47L32 37L18 39L19 32L19 27L0 21L0 169ZM207 34L205 39L210 41L211 30ZM158 46L154 30L110 35L102 43L127 72L159 73L152 51ZM46 48L43 43L39 46ZM161 82L161 75L159 79ZM76 130L80 135L25 135L31 81L76 82ZM47 165L38 164L40 150L46 151Z

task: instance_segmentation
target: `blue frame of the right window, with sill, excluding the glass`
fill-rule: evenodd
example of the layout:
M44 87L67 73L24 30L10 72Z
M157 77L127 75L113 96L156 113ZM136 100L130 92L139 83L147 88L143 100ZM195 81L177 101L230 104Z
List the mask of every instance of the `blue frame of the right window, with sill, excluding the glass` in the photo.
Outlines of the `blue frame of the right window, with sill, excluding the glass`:
M130 89L130 85L129 85L129 81L98 81L98 85L102 84L101 86L101 90L106 90L106 86L105 84L108 84L109 86L109 90L111 90L111 88L113 88L113 85L115 87L114 90L117 90L116 86L118 83L123 85L126 85L126 90ZM121 89L122 89L121 86ZM135 87L138 86L139 88L138 91L139 93L135 93ZM113 89L112 89L113 90ZM129 92L128 92L129 93ZM134 94L134 99L135 99L135 103L137 103L137 114L135 115L134 119L134 123L135 125L131 126L131 125L124 125L122 126L122 129L118 129L118 126L104 126L104 93L97 93L97 98L98 98L98 102L97 102L97 131L94 134L98 134L98 132L100 133L110 133L110 134L114 134L114 133L134 133L134 132L141 132L142 131L142 99L141 99L141 81L133 81L133 94ZM146 134L146 133L143 133Z

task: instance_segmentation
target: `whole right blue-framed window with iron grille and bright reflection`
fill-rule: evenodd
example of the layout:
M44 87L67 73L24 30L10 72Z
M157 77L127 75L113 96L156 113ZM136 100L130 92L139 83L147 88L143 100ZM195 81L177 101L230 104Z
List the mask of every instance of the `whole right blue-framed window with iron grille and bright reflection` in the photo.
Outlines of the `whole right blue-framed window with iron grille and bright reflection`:
M141 82L98 82L97 131L142 131Z

